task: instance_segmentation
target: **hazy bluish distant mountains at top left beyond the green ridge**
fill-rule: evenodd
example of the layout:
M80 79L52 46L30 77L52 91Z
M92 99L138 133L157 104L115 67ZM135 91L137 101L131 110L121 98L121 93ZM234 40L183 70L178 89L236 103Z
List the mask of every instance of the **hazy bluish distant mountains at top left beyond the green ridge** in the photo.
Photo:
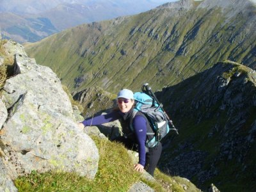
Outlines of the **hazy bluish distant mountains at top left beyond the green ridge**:
M3 0L0 3L1 33L4 38L18 42L36 42L79 24L144 12L166 2L168 0Z

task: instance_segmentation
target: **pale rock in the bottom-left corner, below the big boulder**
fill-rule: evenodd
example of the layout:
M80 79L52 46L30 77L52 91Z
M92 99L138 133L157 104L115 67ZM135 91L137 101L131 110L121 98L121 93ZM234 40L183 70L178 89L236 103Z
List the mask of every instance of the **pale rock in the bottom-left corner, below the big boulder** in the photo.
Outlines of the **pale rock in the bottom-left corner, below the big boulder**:
M8 176L7 170L0 159L0 191L10 191L15 192L18 189L13 184L12 180Z

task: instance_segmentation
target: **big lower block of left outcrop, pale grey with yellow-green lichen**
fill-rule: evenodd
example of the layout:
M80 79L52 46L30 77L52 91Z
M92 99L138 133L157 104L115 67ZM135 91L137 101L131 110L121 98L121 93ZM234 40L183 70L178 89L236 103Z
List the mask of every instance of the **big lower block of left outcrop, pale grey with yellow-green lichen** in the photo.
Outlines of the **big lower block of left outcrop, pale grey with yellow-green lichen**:
M31 104L33 97L31 92L24 96L1 130L4 146L8 146L4 148L4 163L12 170L12 179L32 170L52 169L77 172L92 179L99 161L95 143L72 119Z

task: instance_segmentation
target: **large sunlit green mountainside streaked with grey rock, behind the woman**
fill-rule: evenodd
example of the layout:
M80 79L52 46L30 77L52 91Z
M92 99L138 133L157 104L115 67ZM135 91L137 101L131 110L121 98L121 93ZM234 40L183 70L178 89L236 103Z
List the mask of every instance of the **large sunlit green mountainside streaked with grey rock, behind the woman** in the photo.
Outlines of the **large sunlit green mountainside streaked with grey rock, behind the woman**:
M177 1L139 15L77 26L28 44L26 51L58 71L70 90L136 90L145 82L162 88L220 60L255 68L255 6L230 16L234 9Z

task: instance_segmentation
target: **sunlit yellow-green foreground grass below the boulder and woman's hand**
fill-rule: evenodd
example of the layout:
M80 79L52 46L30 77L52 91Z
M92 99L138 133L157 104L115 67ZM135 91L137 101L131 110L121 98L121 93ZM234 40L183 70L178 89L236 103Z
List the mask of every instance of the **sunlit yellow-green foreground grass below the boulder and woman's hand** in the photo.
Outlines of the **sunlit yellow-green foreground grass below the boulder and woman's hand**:
M156 181L148 181L135 172L131 157L120 143L92 136L99 148L99 168L94 180L80 177L76 173L52 171L47 173L31 172L18 177L15 186L19 191L128 191L135 182L145 182L155 191L177 191L184 189L184 180L156 170ZM115 150L113 150L115 149ZM198 191L193 184L186 184L191 191Z

